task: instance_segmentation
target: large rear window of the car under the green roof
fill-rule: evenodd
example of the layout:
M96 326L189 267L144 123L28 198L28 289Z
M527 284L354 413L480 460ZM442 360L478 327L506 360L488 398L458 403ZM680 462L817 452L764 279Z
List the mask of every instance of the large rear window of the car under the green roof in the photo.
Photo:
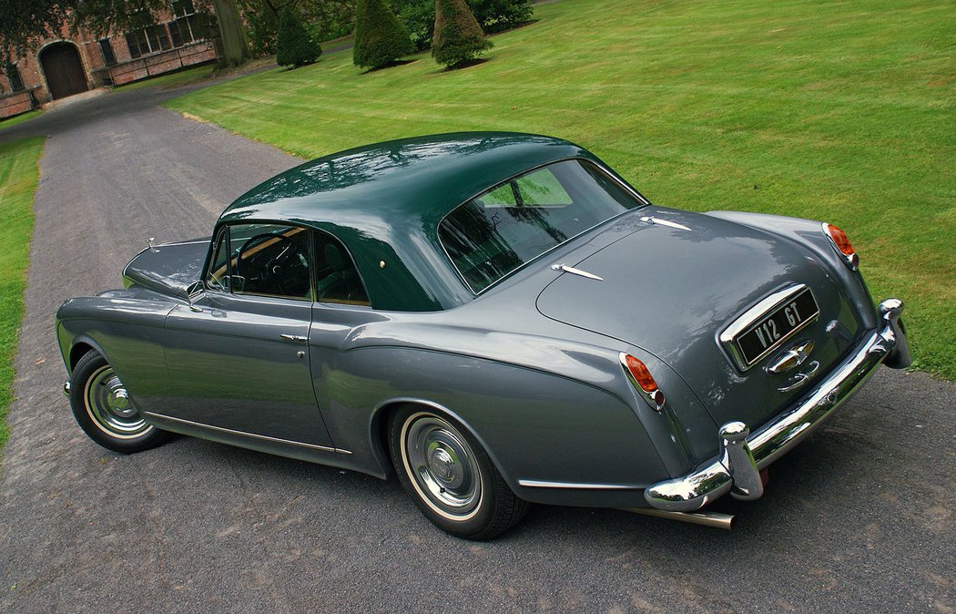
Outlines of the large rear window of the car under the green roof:
M448 257L474 293L640 198L595 164L567 160L537 168L452 210L438 227Z

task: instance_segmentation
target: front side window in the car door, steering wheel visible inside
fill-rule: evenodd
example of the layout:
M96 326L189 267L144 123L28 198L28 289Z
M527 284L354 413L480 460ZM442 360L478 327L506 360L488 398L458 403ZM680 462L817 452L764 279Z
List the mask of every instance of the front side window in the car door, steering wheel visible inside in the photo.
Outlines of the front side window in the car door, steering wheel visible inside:
M311 300L311 252L312 242L306 229L280 224L230 226L228 282L220 283L237 295ZM218 271L213 265L210 275Z

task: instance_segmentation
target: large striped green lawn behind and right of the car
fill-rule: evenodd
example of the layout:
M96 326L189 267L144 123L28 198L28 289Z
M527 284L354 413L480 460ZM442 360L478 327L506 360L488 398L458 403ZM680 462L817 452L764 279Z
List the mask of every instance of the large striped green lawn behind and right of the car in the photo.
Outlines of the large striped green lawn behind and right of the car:
M931 0L562 0L489 61L362 75L335 54L166 105L311 158L469 129L560 136L654 202L824 219L916 366L956 379L956 12Z

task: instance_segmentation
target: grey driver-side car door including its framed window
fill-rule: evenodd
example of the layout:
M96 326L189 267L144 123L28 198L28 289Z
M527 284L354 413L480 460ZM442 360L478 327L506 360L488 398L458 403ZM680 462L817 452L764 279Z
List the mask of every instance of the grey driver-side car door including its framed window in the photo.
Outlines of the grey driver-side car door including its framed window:
M166 318L174 393L164 414L237 435L334 447L310 371L310 231L238 224L215 241L203 290Z

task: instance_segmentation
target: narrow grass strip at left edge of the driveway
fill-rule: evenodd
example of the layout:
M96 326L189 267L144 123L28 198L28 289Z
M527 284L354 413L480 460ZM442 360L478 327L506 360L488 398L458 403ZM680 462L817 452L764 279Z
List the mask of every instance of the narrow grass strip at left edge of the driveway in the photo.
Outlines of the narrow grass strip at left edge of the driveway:
M0 450L7 442L7 408L13 400L13 357L23 318L23 291L33 232L33 193L43 137L0 143Z

